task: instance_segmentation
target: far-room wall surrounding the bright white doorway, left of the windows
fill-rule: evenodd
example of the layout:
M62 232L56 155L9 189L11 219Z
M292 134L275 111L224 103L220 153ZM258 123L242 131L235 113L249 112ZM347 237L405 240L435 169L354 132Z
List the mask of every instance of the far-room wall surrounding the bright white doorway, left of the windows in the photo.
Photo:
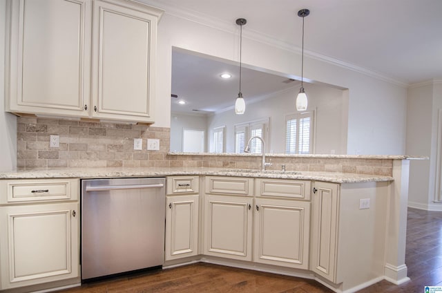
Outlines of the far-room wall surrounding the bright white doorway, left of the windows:
M184 129L198 129L205 131L204 137L207 138L206 124L207 118L205 116L172 113L171 151L182 152L182 133Z

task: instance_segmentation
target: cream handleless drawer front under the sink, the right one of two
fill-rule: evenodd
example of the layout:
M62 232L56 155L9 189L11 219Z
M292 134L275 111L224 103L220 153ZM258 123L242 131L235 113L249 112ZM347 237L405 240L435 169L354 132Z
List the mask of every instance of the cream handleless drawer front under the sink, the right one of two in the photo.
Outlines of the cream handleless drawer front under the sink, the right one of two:
M256 196L310 199L310 181L256 179Z

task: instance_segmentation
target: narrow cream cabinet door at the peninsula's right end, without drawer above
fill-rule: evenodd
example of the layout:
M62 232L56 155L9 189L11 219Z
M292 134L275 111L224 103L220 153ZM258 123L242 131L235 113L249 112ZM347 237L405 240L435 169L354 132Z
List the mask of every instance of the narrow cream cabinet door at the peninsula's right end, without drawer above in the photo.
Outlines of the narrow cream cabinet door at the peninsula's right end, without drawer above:
M338 260L338 185L315 182L311 194L310 270L336 281Z

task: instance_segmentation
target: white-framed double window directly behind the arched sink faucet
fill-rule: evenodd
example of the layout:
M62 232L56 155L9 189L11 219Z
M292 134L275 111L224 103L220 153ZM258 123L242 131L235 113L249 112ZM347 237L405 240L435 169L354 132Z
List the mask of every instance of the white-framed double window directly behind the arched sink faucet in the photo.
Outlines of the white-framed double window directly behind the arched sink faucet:
M236 125L235 152L244 153L247 142L250 138L253 138L253 136L259 136L263 140L266 140L268 129L269 119ZM260 140L252 140L249 147L250 153L261 153L262 142Z

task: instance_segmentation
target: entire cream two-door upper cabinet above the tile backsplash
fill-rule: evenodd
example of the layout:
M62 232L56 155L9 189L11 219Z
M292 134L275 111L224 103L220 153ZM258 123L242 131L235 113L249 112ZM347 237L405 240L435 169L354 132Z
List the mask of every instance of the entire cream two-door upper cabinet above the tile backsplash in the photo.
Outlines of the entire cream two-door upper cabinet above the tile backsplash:
M7 3L6 111L154 122L161 10L128 0Z

